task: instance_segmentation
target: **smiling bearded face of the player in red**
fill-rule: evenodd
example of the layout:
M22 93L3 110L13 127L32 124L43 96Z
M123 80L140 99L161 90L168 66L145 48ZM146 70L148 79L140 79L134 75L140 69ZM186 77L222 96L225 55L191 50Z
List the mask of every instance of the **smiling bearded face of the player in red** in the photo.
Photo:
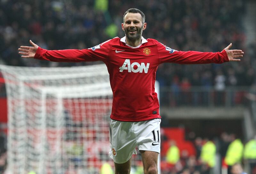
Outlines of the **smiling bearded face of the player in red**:
M142 31L146 29L146 26L147 23L142 23L140 13L127 13L124 16L124 23L122 23L124 33L131 41L141 39Z

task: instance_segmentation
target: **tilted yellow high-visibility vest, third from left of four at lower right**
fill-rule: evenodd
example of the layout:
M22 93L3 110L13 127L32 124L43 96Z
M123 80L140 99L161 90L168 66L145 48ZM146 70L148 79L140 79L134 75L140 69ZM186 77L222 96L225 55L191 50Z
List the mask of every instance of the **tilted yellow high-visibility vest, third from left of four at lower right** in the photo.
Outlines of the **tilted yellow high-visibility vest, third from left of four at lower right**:
M240 139L234 140L229 146L225 157L225 163L232 166L236 162L241 162L244 145Z

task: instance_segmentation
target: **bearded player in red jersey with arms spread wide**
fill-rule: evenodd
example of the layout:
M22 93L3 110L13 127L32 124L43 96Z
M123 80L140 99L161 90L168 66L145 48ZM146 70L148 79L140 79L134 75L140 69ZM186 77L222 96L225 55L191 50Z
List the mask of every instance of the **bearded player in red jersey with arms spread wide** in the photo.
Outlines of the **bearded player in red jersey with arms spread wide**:
M145 174L157 173L160 153L159 103L155 92L156 70L165 62L205 64L240 61L242 50L221 52L176 51L155 39L145 39L145 15L138 9L124 13L121 24L125 36L115 37L92 48L82 50L45 50L31 40L32 47L20 46L22 58L56 62L103 61L113 91L110 115L110 151L115 173L130 173L131 156L139 147Z

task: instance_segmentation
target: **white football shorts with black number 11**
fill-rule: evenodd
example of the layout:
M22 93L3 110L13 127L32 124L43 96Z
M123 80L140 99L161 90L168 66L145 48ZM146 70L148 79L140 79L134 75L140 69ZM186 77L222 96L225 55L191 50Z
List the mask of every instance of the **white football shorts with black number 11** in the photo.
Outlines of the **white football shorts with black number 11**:
M111 119L110 158L118 164L125 163L132 154L137 154L135 146L138 146L139 150L160 153L160 123L160 118L142 122L120 122Z

